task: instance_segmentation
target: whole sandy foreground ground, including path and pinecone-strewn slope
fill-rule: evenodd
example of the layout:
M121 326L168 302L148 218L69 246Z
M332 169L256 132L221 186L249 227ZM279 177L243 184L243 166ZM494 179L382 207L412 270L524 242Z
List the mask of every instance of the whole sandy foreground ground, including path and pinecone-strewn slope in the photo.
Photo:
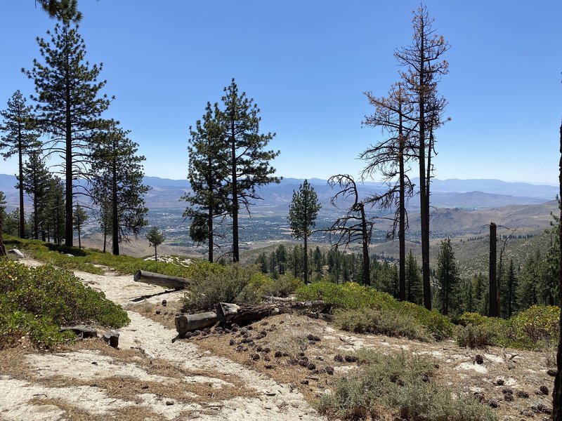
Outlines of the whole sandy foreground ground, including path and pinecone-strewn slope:
M92 339L52 352L25 342L1 351L0 420L322 420L314 402L357 370L350 357L362 347L430 356L438 382L477 394L502 420L548 419L550 352L350 335L300 314L172 342L181 292L130 275L76 274L127 309L119 349Z

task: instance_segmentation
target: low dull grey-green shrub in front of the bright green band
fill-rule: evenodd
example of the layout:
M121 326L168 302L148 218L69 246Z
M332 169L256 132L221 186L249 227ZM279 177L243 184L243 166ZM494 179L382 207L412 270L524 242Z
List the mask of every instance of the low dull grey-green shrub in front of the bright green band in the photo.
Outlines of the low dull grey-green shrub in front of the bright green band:
M374 333L428 342L431 335L421 323L410 316L391 309L357 309L336 312L339 328L355 333Z

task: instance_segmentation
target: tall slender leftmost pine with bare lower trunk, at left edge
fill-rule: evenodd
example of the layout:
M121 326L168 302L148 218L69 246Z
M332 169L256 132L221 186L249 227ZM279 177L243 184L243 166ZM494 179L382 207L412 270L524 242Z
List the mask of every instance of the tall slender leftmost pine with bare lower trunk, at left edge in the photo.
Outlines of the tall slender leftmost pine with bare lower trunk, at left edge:
M23 178L23 159L32 150L39 147L39 131L37 131L37 120L34 118L32 107L25 105L25 98L20 91L15 91L12 98L8 100L8 108L0 112L4 118L4 124L0 126L0 131L6 133L0 138L0 149L7 149L2 154L4 159L10 156L18 156L18 178ZM20 191L20 224L19 235L25 235L25 209L23 203L23 189L18 183Z

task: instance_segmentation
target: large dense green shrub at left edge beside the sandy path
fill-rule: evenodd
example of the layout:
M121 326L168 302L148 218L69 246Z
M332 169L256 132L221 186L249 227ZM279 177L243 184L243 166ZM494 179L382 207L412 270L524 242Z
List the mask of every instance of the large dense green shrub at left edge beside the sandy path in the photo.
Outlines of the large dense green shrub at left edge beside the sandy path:
M0 260L0 331L8 337L29 334L32 342L51 346L73 336L58 333L61 325L98 323L119 328L129 321L121 307L70 272Z

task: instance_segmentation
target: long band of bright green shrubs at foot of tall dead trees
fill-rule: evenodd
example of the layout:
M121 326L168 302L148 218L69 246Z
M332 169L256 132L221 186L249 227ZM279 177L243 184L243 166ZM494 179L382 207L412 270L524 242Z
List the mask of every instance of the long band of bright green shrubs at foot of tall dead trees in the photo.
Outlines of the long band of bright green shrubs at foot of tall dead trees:
M401 317L412 317L435 340L451 338L455 333L455 326L447 316L435 310L429 311L424 307L411 302L399 302L388 295L381 293L369 286L360 286L358 283L348 282L337 284L327 281L312 283L296 290L299 300L324 300L334 309L377 309L395 312L396 320Z

